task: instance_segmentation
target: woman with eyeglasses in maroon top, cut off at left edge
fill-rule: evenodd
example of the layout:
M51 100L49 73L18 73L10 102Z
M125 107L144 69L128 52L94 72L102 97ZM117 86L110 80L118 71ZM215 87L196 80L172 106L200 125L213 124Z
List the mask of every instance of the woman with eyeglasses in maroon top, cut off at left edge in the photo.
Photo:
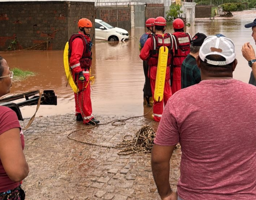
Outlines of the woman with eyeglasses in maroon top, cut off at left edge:
M11 91L13 72L0 56L0 97ZM29 173L23 153L24 135L16 113L0 106L0 200L22 200L22 180Z

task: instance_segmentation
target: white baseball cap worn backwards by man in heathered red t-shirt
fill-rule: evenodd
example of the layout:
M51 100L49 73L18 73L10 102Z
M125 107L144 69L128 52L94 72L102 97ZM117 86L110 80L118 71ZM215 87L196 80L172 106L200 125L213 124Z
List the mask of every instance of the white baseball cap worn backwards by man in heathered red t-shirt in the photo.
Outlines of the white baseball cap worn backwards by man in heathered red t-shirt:
M207 59L207 55L221 55L225 61ZM204 62L212 65L226 65L235 59L235 46L231 39L222 34L211 35L205 38L199 50L199 57Z

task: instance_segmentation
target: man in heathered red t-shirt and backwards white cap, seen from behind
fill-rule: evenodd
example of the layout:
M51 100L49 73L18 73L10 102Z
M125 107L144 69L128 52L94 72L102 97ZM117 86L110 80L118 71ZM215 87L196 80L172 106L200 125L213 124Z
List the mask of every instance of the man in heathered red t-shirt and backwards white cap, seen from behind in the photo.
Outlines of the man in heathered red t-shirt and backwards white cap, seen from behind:
M163 112L152 150L162 200L256 199L256 87L232 78L231 39L208 36L196 58L202 81L177 91ZM181 145L177 192L170 158Z

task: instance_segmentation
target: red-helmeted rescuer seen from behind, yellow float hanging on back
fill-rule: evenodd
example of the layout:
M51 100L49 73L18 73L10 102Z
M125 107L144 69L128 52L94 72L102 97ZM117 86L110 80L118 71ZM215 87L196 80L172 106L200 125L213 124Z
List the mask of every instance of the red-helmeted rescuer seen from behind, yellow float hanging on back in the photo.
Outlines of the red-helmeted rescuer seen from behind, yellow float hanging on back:
M154 97L159 48L161 46L167 46L168 48L164 97L162 101L157 101L156 99L153 98L154 99L153 119L155 121L160 121L163 110L164 110L164 105L167 103L167 100L172 95L172 90L170 87L170 64L171 64L171 57L173 55L173 48L172 48L173 43L172 43L171 34L164 33L166 29L166 20L164 17L158 16L155 19L155 29L156 29L156 33L150 34L149 38L145 42L144 47L141 50L140 57L142 60L145 60L145 61L148 60L148 64L149 64L148 76L150 78L152 96Z

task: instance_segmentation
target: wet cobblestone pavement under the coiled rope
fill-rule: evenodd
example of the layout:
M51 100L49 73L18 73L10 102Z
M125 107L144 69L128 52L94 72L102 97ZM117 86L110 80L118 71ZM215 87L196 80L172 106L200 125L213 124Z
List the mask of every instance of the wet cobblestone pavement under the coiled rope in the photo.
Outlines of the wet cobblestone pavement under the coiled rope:
M97 117L101 122L114 118ZM124 117L123 117L124 118ZM28 122L21 121L24 127ZM24 180L26 199L160 199L151 171L150 153L118 155L115 146L123 135L135 133L148 124L157 129L157 123L139 117L114 126L111 123L92 129L75 121L72 114L36 117L24 131L25 155L30 173ZM176 189L179 177L180 149L171 160L170 182Z

